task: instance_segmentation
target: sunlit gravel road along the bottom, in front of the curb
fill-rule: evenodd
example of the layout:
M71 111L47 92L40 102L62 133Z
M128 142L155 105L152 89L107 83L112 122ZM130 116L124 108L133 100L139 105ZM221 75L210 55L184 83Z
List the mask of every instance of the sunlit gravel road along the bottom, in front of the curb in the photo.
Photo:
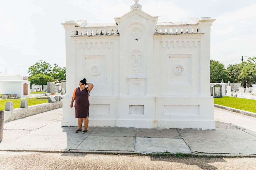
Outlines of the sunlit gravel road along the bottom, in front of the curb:
M0 152L0 169L256 169L256 158L176 158L144 155Z

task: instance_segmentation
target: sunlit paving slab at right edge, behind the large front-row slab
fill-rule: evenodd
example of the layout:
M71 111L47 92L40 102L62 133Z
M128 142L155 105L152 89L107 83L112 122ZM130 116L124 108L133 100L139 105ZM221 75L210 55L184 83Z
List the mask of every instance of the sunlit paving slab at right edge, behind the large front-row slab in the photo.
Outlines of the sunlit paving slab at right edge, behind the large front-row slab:
M233 130L233 129L221 129L221 132L228 136L231 139L247 139L247 140L255 140L256 137L246 133L243 130Z

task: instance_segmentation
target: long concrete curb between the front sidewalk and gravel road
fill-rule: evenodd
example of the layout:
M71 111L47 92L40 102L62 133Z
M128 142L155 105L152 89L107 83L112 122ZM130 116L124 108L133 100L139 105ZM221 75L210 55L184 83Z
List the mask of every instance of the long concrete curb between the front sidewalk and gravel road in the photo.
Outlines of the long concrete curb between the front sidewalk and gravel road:
M102 151L102 150L72 150L72 149L17 149L17 148L0 148L0 152L42 152L42 153L69 153L69 154L139 154L139 155L150 155L150 154L159 154L161 152L152 152L143 154L140 152L133 152L133 151ZM178 154L178 153L171 153L171 154ZM241 156L241 157L256 157L256 154L213 154L213 153L182 153L185 155L199 155L199 156L225 156L225 157L234 157L234 156Z

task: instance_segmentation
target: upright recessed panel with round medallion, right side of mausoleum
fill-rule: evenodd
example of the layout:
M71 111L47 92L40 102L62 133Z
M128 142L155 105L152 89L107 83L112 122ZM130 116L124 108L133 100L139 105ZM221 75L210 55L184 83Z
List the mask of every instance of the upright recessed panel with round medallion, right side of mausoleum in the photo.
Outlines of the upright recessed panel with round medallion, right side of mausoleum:
M168 84L191 84L190 55L169 55L167 67Z

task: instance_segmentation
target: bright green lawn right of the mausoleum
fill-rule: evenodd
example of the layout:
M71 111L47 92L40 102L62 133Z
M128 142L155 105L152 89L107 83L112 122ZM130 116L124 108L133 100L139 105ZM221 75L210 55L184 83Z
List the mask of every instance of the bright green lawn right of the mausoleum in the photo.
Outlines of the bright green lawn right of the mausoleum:
M214 98L214 104L256 113L256 100L223 96Z

